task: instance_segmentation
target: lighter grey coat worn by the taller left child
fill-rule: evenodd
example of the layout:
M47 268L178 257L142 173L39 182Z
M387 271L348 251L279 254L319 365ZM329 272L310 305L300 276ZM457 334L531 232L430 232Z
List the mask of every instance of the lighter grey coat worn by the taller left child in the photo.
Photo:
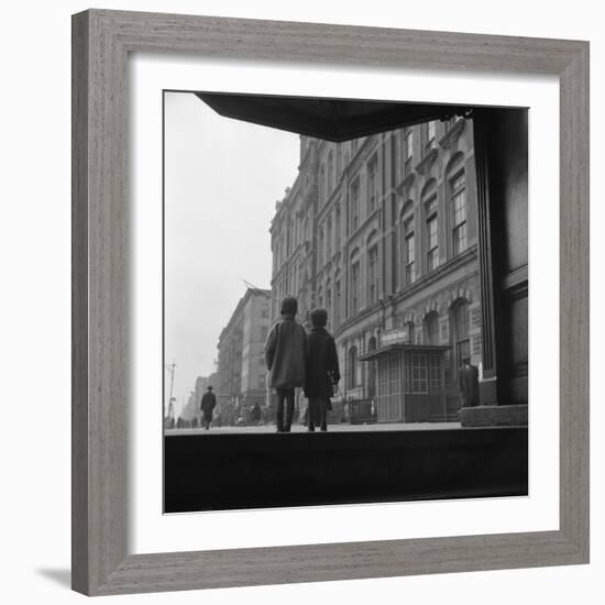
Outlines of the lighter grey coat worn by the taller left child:
M307 333L294 317L284 316L265 343L265 363L271 388L294 388L305 384Z

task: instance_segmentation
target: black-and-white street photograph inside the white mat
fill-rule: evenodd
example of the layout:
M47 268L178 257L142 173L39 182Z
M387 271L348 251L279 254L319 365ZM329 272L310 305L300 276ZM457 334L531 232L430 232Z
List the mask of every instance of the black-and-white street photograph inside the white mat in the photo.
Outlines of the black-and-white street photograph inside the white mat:
M164 512L527 495L527 108L163 95Z

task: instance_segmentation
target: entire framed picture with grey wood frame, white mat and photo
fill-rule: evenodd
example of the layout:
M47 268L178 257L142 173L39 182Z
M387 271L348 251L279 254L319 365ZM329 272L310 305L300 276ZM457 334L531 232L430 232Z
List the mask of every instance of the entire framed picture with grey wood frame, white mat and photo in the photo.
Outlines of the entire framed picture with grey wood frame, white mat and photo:
M73 33L74 588L587 562L587 43Z

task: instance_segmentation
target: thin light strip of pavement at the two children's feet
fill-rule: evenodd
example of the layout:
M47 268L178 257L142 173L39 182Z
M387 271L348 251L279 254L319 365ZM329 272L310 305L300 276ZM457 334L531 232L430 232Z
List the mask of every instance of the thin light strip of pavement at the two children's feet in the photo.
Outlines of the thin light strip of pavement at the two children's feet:
M369 431L417 431L417 430L452 430L460 429L460 422L380 422L372 425L328 425L328 432L369 432ZM251 435L276 432L275 425L261 425L257 427L210 427L204 429L169 429L166 437L185 435ZM304 425L293 425L292 432L307 432ZM316 430L320 433L320 431Z

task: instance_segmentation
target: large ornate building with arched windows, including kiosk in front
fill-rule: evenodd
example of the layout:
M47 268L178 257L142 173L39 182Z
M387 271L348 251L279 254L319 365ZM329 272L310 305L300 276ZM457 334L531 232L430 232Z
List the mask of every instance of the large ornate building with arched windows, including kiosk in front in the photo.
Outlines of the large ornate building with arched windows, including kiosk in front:
M362 403L377 421L458 419L458 367L482 359L472 129L300 139L271 224L272 318L286 295L307 323L328 311L350 420Z

